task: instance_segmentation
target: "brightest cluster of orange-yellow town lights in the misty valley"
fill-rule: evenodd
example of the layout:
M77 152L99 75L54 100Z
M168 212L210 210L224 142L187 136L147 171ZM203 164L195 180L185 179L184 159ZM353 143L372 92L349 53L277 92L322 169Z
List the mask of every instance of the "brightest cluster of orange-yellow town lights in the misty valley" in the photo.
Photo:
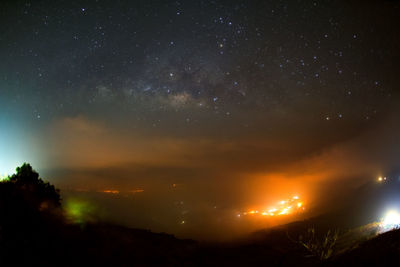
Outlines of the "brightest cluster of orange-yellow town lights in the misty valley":
M299 213L304 210L304 204L298 196L294 196L287 200L279 201L274 207L270 207L265 210L249 210L247 212L239 213L237 216L247 215L261 215L261 216L282 216L293 213Z

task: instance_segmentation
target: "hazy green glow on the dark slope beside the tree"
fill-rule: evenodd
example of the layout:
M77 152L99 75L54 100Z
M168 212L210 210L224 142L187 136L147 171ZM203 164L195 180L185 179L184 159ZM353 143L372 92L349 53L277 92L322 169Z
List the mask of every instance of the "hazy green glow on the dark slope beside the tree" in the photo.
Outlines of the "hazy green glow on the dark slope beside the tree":
M65 203L67 218L77 224L84 224L94 221L96 208L88 201L83 199L71 198Z

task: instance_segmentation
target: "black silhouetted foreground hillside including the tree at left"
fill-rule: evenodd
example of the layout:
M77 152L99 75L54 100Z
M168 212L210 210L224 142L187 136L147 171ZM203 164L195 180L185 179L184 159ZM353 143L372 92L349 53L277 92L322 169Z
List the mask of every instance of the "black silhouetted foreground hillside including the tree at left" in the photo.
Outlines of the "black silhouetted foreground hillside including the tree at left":
M362 189L352 203L390 193L373 190ZM362 213L356 205L246 240L201 243L113 224L71 223L58 190L24 165L0 182L0 266L398 266L400 230L378 234L377 223L360 224L352 217L354 210ZM339 225L340 231L332 230Z

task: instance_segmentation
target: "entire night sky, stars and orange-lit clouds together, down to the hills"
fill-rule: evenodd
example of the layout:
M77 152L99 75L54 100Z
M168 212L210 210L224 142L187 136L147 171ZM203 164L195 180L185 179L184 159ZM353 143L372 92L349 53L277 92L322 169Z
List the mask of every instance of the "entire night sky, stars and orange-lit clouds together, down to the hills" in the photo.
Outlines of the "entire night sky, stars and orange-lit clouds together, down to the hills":
M377 0L1 1L0 172L144 190L109 205L169 232L316 205L400 167L399 18Z

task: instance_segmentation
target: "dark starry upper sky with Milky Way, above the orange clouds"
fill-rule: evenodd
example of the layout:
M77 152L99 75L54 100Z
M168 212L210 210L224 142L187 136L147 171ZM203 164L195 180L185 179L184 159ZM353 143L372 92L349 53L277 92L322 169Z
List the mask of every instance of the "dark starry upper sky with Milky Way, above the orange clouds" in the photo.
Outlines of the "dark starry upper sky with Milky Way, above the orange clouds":
M367 120L395 86L390 2L40 1L2 12L2 93L36 119L100 108L157 125L171 110L185 123L316 101L312 119Z

